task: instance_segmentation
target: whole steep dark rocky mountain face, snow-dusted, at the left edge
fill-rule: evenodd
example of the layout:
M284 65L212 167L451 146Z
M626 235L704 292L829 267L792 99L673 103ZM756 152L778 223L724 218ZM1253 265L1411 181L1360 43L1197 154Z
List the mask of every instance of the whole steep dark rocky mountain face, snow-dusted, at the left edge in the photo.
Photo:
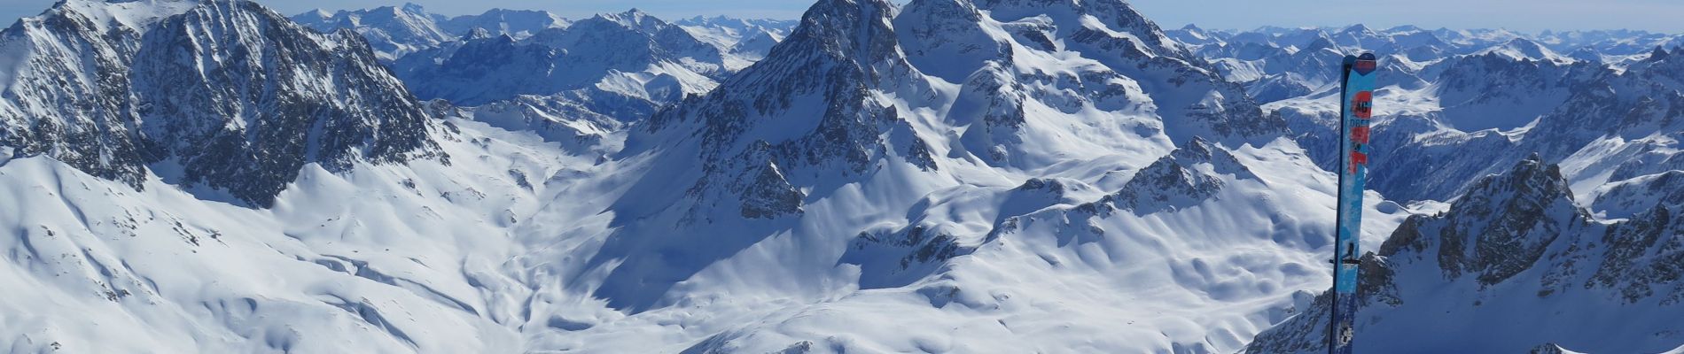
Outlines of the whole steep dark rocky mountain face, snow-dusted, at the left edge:
M66 2L0 34L0 141L136 186L152 166L268 206L306 163L438 156L362 37L251 2Z

